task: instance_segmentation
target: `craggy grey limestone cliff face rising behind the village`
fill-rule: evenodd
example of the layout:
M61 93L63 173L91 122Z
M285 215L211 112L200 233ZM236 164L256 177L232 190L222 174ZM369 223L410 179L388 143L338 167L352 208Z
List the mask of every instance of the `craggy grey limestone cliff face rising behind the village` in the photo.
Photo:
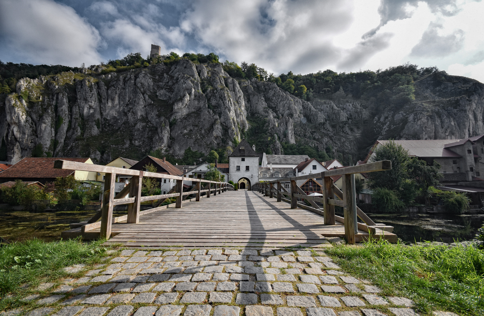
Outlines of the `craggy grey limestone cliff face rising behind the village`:
M181 156L233 146L252 125L267 147L282 142L333 148L361 159L376 139L447 139L484 134L484 85L458 76L415 83L415 102L375 110L340 90L303 101L274 83L236 80L221 64L181 59L108 75L72 72L18 81L0 99L7 159L45 155L141 158L150 150Z

